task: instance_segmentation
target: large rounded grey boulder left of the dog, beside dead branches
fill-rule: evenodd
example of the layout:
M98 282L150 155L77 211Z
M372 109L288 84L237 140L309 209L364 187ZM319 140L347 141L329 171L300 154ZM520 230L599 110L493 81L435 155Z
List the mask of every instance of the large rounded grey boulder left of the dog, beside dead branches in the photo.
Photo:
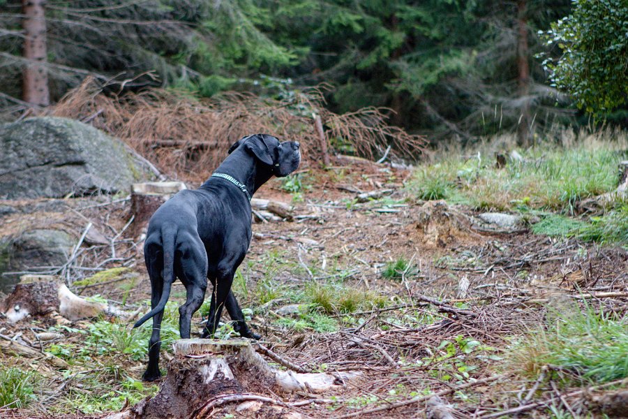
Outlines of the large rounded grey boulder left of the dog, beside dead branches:
M72 119L0 125L0 199L126 190L146 178L124 144Z

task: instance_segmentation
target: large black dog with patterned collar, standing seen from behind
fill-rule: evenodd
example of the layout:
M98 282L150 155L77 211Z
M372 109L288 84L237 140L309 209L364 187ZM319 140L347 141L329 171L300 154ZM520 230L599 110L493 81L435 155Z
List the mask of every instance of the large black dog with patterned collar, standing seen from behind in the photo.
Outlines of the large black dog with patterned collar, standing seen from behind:
M175 277L186 287L186 303L179 307L181 338L190 337L192 314L201 306L207 279L214 286L203 337L213 336L223 307L243 337L251 332L231 292L233 276L251 243L251 195L273 175L283 177L299 167L299 142L279 142L266 134L241 138L213 175L195 191L180 191L149 221L144 259L151 279L151 311L135 328L153 318L149 364L144 380L159 371L159 332L163 309Z

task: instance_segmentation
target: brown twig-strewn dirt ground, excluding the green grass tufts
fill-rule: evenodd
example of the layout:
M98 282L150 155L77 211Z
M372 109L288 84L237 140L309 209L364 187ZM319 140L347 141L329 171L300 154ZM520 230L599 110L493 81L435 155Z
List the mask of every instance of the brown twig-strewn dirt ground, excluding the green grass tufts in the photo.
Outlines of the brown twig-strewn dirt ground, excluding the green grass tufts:
M499 411L512 411L507 417L550 417L552 404L588 411L585 391L555 392L550 383L534 389L534 381L518 374L518 366L504 353L518 337L543 323L548 307L560 310L586 300L599 309L625 312L627 252L534 235L527 228L488 233L474 227L471 210L415 200L403 189L410 176L407 170L383 165L305 170L309 189L301 191L299 202L294 203L294 220L254 224L251 249L243 264L249 288L264 278L269 255L274 255L283 263L275 272L276 281L290 286L342 281L384 295L385 304L331 315L341 319L341 328L335 332L279 327L276 318L290 317L277 312L287 304L281 296L264 310L256 310L250 323L272 351L312 371L351 371L359 373L358 378L324 394L285 396L269 391L263 395L283 404L260 403L248 411L236 411L238 403L223 404L212 417L423 418L431 393L440 395L456 418L495 417ZM269 182L256 196L292 202L295 194L280 186L278 180ZM387 193L378 200L357 202L359 193L375 190ZM129 219L124 198L69 201L69 210L52 211L45 219L35 213L28 217L33 223L62 224L77 236L92 221L107 237L120 233ZM3 230L19 230L15 219L4 221ZM150 292L141 243L124 233L119 240L115 256L110 247L93 247L77 258L77 265L96 266L111 259L101 266L130 267L139 275L130 293L112 284L76 292L139 307L134 304L145 302ZM398 280L384 278L387 264L402 257L410 265L408 272ZM180 299L181 291L181 284L175 284L171 299ZM242 302L244 307L257 308L258 303L246 297ZM0 330L9 339L21 333L34 340L29 321L10 325L0 318ZM68 335L68 339L79 338ZM466 352L470 341L484 349ZM455 356L438 356L448 348L453 348ZM127 371L139 379L143 367L141 362L129 362ZM54 367L45 368L55 384L51 396L57 397L67 377ZM595 394L595 389L587 394ZM45 404L45 398L39 403ZM297 403L305 400L311 403ZM6 409L1 415L50 417L37 404L26 411ZM65 417L103 416L77 413Z

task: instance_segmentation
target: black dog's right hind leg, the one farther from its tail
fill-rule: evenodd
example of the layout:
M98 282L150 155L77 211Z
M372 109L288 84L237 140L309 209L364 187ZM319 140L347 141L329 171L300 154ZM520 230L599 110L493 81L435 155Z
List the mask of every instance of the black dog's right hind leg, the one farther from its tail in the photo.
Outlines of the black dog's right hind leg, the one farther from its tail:
M182 249L181 269L186 284L186 302L179 307L179 333L181 339L190 338L192 315L200 309L207 289L207 253L200 239L188 242Z

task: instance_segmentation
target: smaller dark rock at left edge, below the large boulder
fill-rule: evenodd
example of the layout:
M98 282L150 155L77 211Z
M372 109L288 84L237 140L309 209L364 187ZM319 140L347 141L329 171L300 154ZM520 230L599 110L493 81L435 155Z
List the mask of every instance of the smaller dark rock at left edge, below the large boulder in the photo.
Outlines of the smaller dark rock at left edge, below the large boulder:
M0 240L0 272L63 265L74 245L75 240L59 230L31 230L10 241ZM0 291L13 289L18 277L2 275Z

